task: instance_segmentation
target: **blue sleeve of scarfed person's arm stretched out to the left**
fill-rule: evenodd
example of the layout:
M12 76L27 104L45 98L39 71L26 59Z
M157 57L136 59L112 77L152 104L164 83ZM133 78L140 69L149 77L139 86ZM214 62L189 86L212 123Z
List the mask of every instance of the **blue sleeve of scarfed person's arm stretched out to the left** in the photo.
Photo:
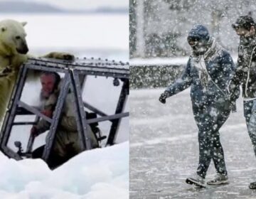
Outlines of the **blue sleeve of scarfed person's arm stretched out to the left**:
M190 87L192 78L191 78L191 58L188 60L186 68L181 76L178 78L172 85L166 88L166 92L168 93L168 97L172 95L176 95L178 92L185 90L186 88Z

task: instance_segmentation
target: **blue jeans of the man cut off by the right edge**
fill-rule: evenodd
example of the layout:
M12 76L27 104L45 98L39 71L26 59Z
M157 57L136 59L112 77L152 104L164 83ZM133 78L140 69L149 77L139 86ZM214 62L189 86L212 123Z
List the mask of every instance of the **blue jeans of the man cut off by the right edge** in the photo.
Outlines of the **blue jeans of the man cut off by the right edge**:
M247 131L256 155L256 99L244 101L244 115Z

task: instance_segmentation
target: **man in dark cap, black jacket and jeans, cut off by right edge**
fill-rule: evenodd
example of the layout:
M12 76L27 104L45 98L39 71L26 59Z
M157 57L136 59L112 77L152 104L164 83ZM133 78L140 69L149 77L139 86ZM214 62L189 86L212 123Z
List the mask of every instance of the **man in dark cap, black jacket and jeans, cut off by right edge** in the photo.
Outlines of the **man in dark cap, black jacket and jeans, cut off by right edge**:
M256 155L256 24L250 16L240 16L232 24L240 36L238 47L238 66L229 89L242 85L244 116L247 131ZM249 188L256 189L256 182Z

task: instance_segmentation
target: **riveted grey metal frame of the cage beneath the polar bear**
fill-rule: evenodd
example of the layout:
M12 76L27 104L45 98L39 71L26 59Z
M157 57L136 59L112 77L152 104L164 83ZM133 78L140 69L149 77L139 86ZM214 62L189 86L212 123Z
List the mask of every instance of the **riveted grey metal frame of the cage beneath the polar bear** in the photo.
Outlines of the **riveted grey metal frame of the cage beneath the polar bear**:
M63 108L63 104L65 102L65 97L68 95L68 90L71 88L73 97L75 99L75 109L76 111L76 122L78 124L78 134L80 136L82 149L87 150L91 149L91 143L88 136L88 124L95 122L103 122L110 121L112 122L112 126L110 129L110 135L107 140L107 144L114 144L114 139L117 134L117 130L119 127L119 123L122 117L128 117L129 113L122 113L122 109L127 99L128 92L124 89L124 85L126 85L129 78L129 65L124 63L115 63L107 60L76 60L77 62L69 62L69 61L60 61L60 60L50 60L46 58L42 59L28 59L28 62L24 65L21 65L21 68L18 72L18 78L16 81L16 85L14 86L14 90L11 93L11 100L9 101L8 110L6 112L6 116L4 118L4 123L1 129L0 135L0 144L1 151L4 152L7 156L11 158L15 158L16 160L22 159L21 156L16 154L16 152L7 146L9 141L9 136L11 134L11 128L14 125L33 125L36 121L38 121L39 117L42 119L46 119L46 121L51 122L50 131L46 140L46 147L43 151L43 159L48 161L48 157L50 155L50 150L53 146L53 141L55 139L56 129L58 127L58 121L61 114L61 109ZM82 63L79 63L82 61ZM55 112L53 115L54 119L50 119L45 115L41 114L41 112L36 109L36 107L29 106L28 104L21 102L21 93L23 90L23 86L26 81L26 74L30 70L43 70L49 72L62 72L65 73L65 77L63 79L63 86L60 90L60 95L58 98L57 105L55 107ZM104 112L100 111L87 102L82 102L82 90L81 87L85 85L85 80L87 75L94 76L103 76L103 77L117 77L121 80L124 80L124 85L122 86L122 91L119 96L119 101L116 108L116 114L107 115ZM82 82L80 81L83 79ZM126 81L127 80L127 81ZM127 86L127 89L128 86ZM18 106L19 105L19 106ZM35 122L14 122L15 116L18 114L23 114L21 112L17 112L18 108L24 108L24 110L28 110L26 114L36 114ZM91 109L96 114L102 116L96 119L86 119L86 114L84 107ZM31 152L33 146L34 138L30 136L28 139L28 144L26 147L26 152Z

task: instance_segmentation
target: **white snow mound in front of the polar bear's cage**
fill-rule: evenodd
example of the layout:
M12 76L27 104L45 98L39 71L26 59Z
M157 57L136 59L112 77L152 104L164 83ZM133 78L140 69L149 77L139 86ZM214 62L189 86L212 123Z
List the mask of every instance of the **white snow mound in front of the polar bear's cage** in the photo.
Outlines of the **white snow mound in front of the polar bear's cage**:
M0 153L0 198L129 198L129 143L85 151L54 171Z

